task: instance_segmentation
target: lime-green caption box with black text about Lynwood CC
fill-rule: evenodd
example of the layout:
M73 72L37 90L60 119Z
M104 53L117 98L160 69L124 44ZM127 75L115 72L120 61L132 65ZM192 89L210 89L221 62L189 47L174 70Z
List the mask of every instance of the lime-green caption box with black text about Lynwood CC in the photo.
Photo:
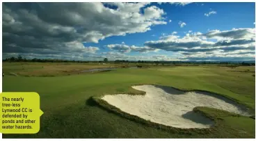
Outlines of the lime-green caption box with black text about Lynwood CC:
M3 92L0 95L1 133L38 133L40 96L34 92Z

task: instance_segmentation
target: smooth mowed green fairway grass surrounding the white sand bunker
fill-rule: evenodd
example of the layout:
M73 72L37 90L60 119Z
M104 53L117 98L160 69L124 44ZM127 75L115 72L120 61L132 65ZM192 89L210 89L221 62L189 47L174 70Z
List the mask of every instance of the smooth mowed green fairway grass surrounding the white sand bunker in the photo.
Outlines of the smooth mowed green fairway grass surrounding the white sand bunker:
M86 67L86 64L83 65ZM11 72L12 67L15 68L15 73L25 72L22 67L29 66L33 66L33 63L13 66L3 63L3 72ZM37 73L40 69L43 68L38 68ZM179 131L163 131L127 120L90 101L92 96L114 93L139 94L140 91L131 88L136 84L158 84L184 90L219 93L255 111L253 72L255 66L159 66L142 69L120 68L102 73L56 77L6 75L3 77L3 91L39 93L40 106L44 114L40 118L40 131L37 134L3 135L3 138L255 138L253 118L232 116L225 111L202 108L202 111L218 120L218 126L211 133L191 131L185 134ZM47 72L47 75L49 74L51 71Z

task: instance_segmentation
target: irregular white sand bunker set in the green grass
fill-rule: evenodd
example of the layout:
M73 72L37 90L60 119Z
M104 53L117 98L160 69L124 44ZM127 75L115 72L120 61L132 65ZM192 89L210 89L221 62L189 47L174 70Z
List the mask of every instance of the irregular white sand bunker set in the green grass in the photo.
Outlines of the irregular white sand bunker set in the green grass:
M209 128L214 121L193 112L195 106L207 106L241 115L246 111L221 95L193 91L184 92L167 86L132 86L146 95L104 95L102 100L131 115L151 122L182 129Z

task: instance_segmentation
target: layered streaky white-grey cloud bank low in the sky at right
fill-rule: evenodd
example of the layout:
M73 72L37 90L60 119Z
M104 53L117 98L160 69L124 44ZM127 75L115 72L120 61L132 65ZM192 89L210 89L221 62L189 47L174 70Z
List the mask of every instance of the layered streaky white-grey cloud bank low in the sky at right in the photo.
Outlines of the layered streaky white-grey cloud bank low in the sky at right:
M253 58L255 53L255 28L239 28L225 31L209 31L205 34L192 32L184 37L168 35L158 41L146 41L145 46L184 55L183 59L199 59L211 57L246 57ZM221 38L209 41L211 38ZM182 58L179 58L182 59Z

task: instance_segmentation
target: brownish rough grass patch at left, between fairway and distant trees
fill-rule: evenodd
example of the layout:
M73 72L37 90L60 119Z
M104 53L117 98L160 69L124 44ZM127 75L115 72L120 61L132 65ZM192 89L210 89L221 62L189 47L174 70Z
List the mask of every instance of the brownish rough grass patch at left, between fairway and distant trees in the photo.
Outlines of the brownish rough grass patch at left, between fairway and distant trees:
M93 68L109 68L121 67L118 64L102 64L102 63L19 63L19 62L4 62L3 73L10 75L15 73L26 77L54 77L61 75L78 75L81 71L86 71Z

